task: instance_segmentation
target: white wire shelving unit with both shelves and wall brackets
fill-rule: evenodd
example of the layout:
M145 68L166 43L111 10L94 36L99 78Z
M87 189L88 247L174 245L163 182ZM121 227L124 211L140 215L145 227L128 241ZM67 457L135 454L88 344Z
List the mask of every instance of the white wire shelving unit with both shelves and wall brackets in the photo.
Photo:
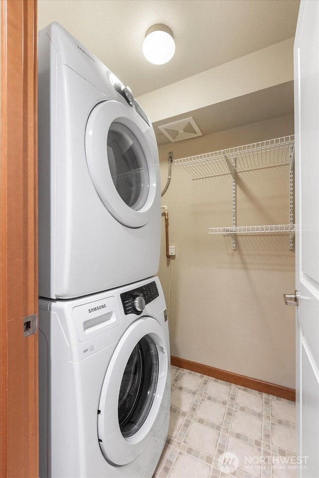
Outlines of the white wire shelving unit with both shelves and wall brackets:
M224 228L209 228L208 234L231 235L233 249L236 249L237 234L289 234L289 247L294 248L294 148L295 136L268 139L258 143L245 144L235 148L212 151L185 158L175 159L174 164L181 166L191 175L192 179L209 178L230 174L232 176L232 226ZM237 226L237 194L236 174L251 169L269 168L289 165L290 181L290 211L289 224L274 224L265 226Z

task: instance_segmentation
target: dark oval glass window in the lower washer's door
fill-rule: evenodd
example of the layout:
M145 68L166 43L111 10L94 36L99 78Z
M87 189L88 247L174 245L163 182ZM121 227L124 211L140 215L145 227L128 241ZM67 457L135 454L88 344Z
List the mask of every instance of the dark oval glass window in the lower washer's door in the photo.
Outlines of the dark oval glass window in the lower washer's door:
M124 370L118 405L122 435L134 435L152 407L159 376L159 355L151 336L146 335L134 348Z

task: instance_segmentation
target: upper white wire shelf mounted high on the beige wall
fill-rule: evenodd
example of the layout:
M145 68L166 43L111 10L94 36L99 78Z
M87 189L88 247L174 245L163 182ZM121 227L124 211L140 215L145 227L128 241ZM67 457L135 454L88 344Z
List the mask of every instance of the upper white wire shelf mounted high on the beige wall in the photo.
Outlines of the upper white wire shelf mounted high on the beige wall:
M174 165L185 168L192 179L230 174L234 160L236 171L248 171L289 164L292 161L295 136L268 139L220 151L175 159Z

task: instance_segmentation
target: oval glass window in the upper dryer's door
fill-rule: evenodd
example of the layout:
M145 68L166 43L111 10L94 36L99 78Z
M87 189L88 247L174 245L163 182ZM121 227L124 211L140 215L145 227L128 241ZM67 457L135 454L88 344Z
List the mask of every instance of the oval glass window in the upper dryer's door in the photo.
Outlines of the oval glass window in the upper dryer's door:
M107 157L117 192L125 204L138 211L148 198L149 170L138 139L122 123L113 122L110 126Z

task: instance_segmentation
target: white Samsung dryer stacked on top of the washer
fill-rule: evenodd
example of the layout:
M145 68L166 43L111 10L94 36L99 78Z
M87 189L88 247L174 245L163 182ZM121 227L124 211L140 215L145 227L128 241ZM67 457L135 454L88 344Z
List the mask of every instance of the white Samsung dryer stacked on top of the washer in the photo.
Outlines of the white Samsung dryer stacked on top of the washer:
M39 295L73 298L155 275L160 173L132 92L54 22L38 37Z

